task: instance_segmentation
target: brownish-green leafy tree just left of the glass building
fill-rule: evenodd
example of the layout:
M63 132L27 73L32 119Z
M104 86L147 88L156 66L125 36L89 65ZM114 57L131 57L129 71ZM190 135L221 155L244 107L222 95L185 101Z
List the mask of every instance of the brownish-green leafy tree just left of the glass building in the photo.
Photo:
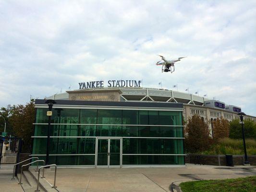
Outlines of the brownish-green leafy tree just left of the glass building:
M35 122L35 100L31 99L26 105L13 106L10 123L15 136L22 138L23 152L32 150L33 123Z

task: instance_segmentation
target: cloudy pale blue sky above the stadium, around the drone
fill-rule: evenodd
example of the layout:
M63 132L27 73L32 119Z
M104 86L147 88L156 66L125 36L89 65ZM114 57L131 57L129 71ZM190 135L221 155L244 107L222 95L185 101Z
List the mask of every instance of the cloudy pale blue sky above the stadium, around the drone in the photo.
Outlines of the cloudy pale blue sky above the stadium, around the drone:
M121 79L256 116L256 1L0 0L0 107Z

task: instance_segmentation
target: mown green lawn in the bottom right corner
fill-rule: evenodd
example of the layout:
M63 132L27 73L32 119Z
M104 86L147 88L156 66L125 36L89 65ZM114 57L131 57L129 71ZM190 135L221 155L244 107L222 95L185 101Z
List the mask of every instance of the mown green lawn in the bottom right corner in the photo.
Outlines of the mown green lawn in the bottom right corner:
M228 180L188 181L180 184L183 192L256 192L256 176Z

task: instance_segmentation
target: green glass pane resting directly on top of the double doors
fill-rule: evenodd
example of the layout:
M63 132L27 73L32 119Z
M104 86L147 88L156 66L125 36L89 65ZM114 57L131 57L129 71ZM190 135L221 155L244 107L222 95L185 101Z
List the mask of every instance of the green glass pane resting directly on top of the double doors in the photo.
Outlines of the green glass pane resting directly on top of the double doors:
M98 125L97 136L120 137L122 136L122 126L121 125Z

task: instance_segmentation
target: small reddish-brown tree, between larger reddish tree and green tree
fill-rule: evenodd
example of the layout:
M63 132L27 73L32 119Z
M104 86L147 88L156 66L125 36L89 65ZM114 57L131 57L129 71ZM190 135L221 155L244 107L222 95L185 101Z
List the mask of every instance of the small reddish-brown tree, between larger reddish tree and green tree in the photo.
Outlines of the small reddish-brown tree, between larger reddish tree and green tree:
M220 138L229 137L230 124L228 120L217 118L212 122L213 125L213 139L218 140Z

